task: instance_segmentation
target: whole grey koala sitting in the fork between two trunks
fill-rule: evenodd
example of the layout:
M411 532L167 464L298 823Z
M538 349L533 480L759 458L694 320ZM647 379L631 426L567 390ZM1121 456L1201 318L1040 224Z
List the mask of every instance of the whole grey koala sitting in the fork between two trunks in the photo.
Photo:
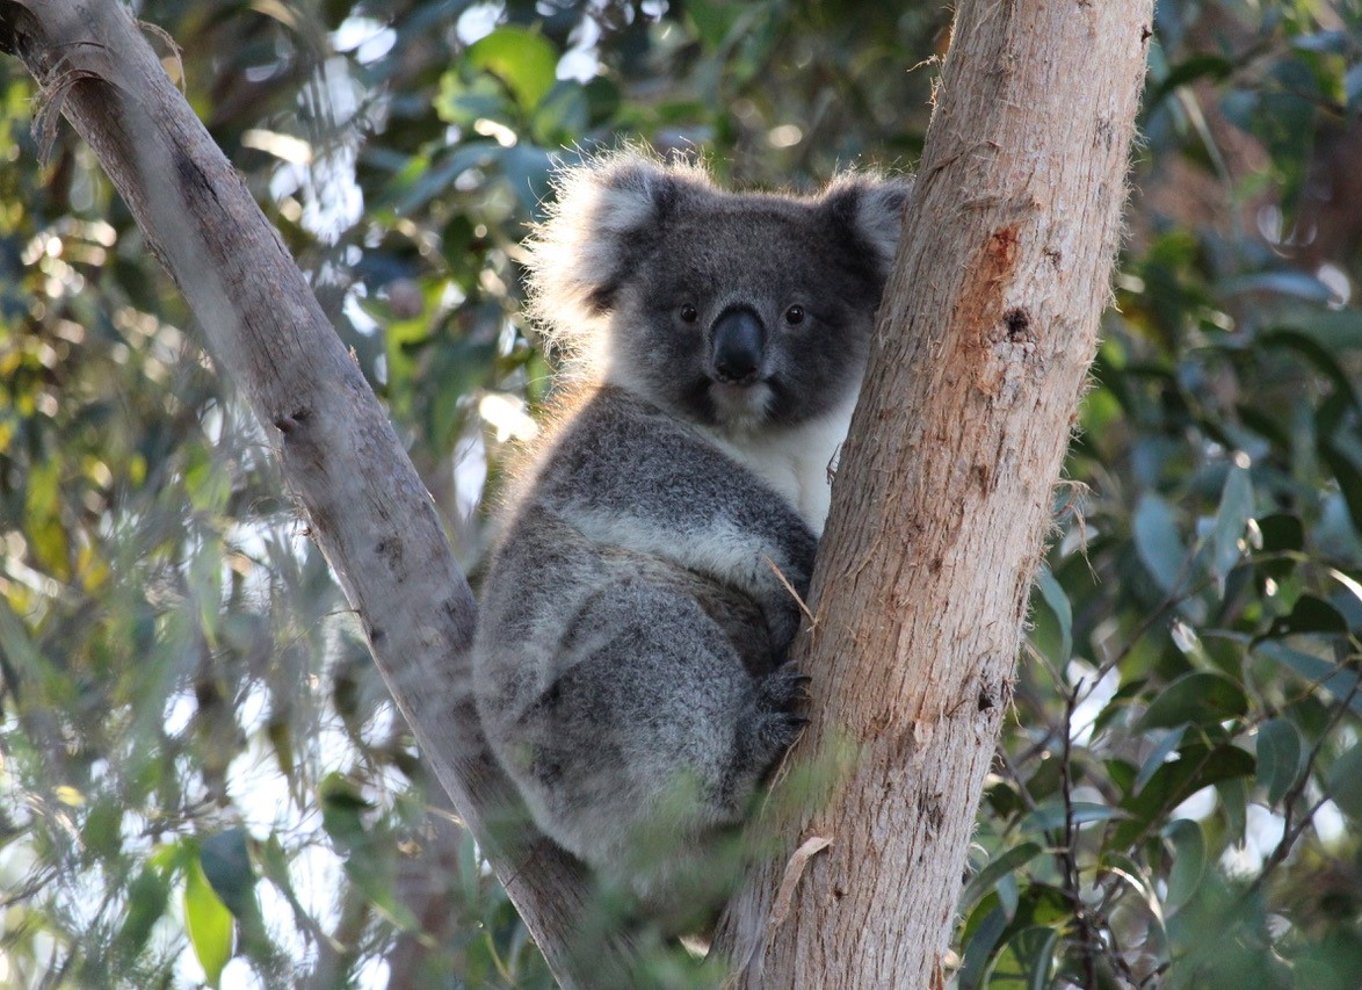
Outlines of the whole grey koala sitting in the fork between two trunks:
M538 827L659 910L805 722L795 595L910 188L731 193L627 150L527 241L575 384L503 511L478 712Z

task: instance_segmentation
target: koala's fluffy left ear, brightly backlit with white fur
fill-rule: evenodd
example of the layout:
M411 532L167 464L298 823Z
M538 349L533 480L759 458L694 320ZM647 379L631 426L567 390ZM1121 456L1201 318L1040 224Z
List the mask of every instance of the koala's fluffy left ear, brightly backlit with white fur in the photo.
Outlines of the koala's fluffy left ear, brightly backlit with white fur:
M607 316L650 237L689 188L712 188L699 165L624 148L564 166L557 197L526 241L527 309L549 343L579 350Z

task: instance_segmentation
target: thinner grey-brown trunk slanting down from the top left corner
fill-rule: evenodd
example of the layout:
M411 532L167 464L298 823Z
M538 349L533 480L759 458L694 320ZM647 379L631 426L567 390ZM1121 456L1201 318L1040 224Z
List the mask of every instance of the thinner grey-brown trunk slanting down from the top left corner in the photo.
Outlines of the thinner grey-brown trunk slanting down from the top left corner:
M590 987L622 968L621 940L577 952L582 867L542 837L489 832L518 798L473 708L473 594L387 415L240 176L117 0L0 0L0 49L42 90L39 142L57 113L89 142L275 441L422 756L560 982Z

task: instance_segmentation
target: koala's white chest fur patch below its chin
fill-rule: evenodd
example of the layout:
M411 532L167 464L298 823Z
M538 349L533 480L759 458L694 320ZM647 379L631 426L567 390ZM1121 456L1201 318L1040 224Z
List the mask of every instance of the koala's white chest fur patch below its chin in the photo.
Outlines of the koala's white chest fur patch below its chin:
M774 488L814 535L823 535L832 498L832 468L851 425L855 392L829 413L786 429L704 428L715 447Z

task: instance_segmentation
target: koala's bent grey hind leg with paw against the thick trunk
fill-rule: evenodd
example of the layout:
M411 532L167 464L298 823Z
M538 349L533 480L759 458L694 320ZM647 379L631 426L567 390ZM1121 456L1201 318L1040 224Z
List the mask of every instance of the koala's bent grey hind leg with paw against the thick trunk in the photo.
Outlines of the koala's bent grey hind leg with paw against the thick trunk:
M753 678L695 599L656 583L595 595L558 662L515 733L523 788L552 837L636 888L738 824L804 724L804 678L789 666Z

